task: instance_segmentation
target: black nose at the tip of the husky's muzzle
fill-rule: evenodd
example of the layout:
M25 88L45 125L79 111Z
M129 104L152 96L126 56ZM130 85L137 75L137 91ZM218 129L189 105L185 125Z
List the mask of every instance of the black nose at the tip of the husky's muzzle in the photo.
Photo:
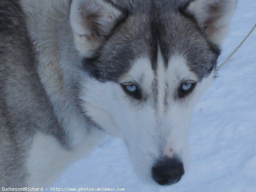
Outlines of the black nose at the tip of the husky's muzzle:
M178 159L158 161L152 168L152 176L160 185L177 183L184 175L183 163Z

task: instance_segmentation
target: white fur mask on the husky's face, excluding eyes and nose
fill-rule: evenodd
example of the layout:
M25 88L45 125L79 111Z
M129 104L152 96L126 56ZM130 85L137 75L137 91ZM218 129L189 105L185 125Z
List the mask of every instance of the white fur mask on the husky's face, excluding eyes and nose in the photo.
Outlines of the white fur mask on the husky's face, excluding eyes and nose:
M189 70L186 58L174 55L169 67L164 68L159 52L157 74L151 68L149 58L134 61L131 70L119 79L119 83L140 82L147 102L137 101L128 96L122 87L113 82L101 83L95 79L84 79L81 93L83 108L100 127L116 136L123 137L131 155L134 170L152 183L151 168L161 156L178 155L187 169L189 162L188 128L192 109L198 97L213 80L214 72L198 82L195 90L186 99L175 99L175 90L183 79L198 81ZM154 78L158 81L159 99L157 111L151 93ZM168 83L167 111L164 106L165 85ZM90 87L88 85L90 84ZM104 97L102 97L104 95ZM163 151L163 154L161 154Z

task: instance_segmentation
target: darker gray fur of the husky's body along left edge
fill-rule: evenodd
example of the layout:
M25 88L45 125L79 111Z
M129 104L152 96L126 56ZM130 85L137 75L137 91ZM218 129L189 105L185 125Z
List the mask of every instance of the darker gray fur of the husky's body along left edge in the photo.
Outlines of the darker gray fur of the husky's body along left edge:
M24 160L33 135L52 134L65 145L36 73L24 14L16 0L0 2L0 186L24 186ZM35 113L36 111L36 113Z

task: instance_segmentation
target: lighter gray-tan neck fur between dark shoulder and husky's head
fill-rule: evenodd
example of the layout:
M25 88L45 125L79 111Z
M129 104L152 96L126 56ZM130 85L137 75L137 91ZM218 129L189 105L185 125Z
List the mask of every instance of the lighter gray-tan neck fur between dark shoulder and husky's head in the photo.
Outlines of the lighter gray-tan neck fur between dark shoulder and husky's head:
M71 148L96 147L104 133L100 131L99 134L98 128L86 121L76 105L77 82L71 74L82 72L77 66L80 56L70 28L70 0L20 0L20 4L34 44L38 74L55 115L68 135L68 138L63 136L67 145Z

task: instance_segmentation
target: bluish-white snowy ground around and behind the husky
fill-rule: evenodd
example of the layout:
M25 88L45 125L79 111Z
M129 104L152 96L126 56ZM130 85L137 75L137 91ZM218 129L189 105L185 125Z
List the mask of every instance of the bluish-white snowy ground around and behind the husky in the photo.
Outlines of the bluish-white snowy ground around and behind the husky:
M219 63L256 23L256 1L239 0ZM121 140L109 138L71 166L55 187L122 187L127 192L256 192L256 31L194 111L190 169L179 183L148 186L132 170Z

